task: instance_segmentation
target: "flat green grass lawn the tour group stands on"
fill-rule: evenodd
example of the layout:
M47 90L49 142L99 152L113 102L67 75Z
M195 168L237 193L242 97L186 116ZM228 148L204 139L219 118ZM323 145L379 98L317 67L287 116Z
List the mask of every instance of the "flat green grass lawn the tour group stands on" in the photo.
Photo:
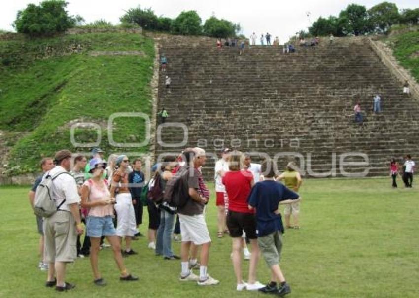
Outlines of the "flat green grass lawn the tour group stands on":
M390 179L303 184L302 228L287 230L283 238L281 266L292 287L289 297L419 297L418 187L393 190L390 185ZM125 259L129 270L140 277L138 282L120 282L112 253L104 249L99 263L108 285L95 286L89 260L77 259L68 266L66 278L77 287L59 294L43 286L46 273L37 268L38 235L28 187L1 187L0 297L263 297L235 290L231 239L216 237L211 191L209 273L220 280L219 285L180 283L180 262L155 257L146 238L140 238L133 247L139 254ZM146 212L144 219L142 233L148 223ZM174 243L176 254L179 249ZM269 280L262 259L257 276L263 283Z

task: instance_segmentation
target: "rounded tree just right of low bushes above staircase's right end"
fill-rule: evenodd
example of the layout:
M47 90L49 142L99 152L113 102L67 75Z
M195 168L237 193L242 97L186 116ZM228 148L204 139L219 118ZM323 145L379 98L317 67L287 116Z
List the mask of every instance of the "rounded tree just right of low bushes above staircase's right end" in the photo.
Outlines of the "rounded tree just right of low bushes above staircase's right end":
M350 4L339 13L338 24L346 35L368 33L368 14L365 6Z

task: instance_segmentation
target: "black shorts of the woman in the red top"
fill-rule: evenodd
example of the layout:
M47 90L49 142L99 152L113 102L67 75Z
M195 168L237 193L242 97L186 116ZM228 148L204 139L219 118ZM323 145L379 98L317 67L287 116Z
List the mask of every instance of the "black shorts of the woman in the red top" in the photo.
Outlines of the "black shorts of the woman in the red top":
M242 237L243 231L249 239L256 239L256 218L254 214L228 211L227 228L231 237Z

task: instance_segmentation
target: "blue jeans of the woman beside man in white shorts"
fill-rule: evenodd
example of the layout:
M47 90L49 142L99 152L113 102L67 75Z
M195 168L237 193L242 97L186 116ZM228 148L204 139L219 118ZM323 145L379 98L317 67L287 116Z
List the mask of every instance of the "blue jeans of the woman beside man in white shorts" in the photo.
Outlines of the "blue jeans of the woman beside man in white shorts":
M160 210L160 225L157 230L156 254L172 257L172 232L175 224L175 214Z

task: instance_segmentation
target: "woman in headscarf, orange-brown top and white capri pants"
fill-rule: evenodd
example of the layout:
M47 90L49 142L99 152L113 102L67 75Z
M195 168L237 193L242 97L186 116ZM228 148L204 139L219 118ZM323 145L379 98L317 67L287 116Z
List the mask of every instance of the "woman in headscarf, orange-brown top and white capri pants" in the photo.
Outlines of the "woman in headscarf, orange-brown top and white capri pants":
M130 160L126 155L120 155L116 159L117 169L113 172L110 197L116 200L116 234L125 237L124 256L136 255L137 252L131 248L131 240L136 233L136 220L131 193L128 188L128 173Z

